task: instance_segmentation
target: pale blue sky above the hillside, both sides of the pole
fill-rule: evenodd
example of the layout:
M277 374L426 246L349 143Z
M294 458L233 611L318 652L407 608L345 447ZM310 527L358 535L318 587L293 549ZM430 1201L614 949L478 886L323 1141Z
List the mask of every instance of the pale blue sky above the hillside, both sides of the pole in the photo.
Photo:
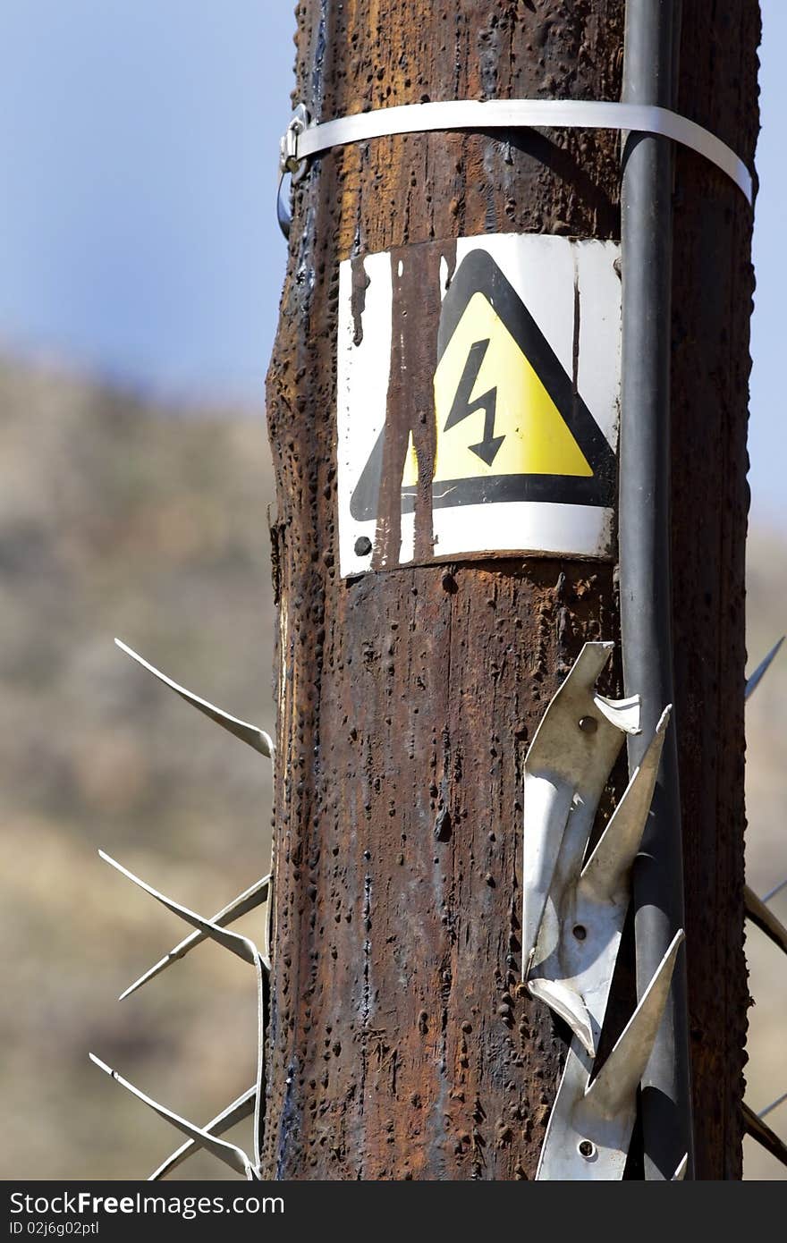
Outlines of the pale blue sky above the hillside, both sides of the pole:
M0 0L0 348L165 397L260 399L293 7ZM762 9L750 480L752 521L787 527L787 4Z

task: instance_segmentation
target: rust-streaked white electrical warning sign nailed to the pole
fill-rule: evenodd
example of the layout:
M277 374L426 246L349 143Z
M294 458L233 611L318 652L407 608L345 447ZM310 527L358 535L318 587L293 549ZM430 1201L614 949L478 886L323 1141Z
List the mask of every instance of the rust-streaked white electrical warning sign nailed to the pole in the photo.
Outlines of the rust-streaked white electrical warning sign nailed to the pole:
M341 266L343 574L610 554L618 250L492 235Z

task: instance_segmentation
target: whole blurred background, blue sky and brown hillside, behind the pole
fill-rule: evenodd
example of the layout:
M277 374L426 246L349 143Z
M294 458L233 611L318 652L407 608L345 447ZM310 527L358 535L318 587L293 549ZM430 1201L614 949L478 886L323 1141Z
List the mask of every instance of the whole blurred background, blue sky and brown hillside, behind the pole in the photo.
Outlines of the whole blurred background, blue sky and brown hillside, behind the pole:
M763 20L750 667L787 629L787 6ZM177 1146L88 1049L198 1121L252 1083L254 978L229 955L201 946L116 1003L183 932L96 850L208 914L269 866L267 762L112 638L272 727L261 397L293 29L290 0L0 0L2 1178L138 1178ZM787 875L786 653L747 712L762 894ZM787 965L756 930L746 948L758 1110L787 1090ZM787 1105L768 1121L786 1135ZM746 1141L746 1177L786 1175Z

